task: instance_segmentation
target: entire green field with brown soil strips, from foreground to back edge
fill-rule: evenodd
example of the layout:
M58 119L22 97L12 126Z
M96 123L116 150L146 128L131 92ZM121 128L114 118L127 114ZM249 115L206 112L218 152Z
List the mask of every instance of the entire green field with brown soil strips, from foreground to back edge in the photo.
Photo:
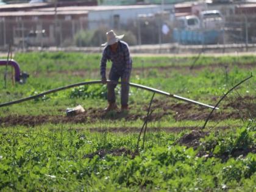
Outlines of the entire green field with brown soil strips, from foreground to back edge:
M30 77L13 86L9 68L0 103L100 78L100 54L41 52L15 54L14 59ZM233 85L255 74L255 59L134 56L130 81L215 105ZM2 107L0 190L253 191L255 85L252 77L230 93L203 131L210 109L155 95L138 151L152 96L148 91L130 88L129 113L104 113L105 85ZM67 117L66 108L78 104L85 113Z

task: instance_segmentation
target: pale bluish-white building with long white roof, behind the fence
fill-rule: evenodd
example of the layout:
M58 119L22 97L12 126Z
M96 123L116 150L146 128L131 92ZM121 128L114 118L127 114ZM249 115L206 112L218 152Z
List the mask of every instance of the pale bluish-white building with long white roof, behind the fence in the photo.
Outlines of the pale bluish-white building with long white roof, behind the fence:
M154 15L162 10L174 12L174 5L102 5L58 7L57 13L79 12L87 14L88 29L97 29L100 25L116 27L126 24L129 20L137 20L138 15ZM54 12L54 8L37 9L38 12Z

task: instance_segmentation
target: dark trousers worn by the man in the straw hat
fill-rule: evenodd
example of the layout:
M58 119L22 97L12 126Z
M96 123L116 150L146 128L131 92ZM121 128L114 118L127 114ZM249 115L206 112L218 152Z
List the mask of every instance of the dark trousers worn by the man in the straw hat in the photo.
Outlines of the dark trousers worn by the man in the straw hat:
M129 83L129 77L124 78L123 73L117 73L113 70L110 70L109 80L118 81L121 77L121 82ZM107 101L116 102L115 88L117 84L107 84ZM121 105L127 105L129 99L129 85L121 84Z

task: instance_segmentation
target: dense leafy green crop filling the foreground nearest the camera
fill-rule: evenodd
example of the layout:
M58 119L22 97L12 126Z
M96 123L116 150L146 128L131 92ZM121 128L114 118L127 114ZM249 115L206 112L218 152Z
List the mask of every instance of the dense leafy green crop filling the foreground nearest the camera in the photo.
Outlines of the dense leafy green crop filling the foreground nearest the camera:
M135 153L138 133L3 129L0 191L255 190L255 124L210 133L196 149L177 144L186 134L149 132Z

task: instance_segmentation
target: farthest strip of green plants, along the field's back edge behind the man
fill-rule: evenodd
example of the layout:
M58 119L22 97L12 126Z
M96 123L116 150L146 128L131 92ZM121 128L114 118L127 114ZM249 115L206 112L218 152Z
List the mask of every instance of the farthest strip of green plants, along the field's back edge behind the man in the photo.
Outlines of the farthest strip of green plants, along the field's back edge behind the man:
M233 66L254 65L255 55L241 56L132 56L133 68L148 67L180 67L180 66ZM15 59L24 71L76 71L98 69L101 54L85 54L79 52L28 52L17 53ZM110 67L108 65L108 67Z

